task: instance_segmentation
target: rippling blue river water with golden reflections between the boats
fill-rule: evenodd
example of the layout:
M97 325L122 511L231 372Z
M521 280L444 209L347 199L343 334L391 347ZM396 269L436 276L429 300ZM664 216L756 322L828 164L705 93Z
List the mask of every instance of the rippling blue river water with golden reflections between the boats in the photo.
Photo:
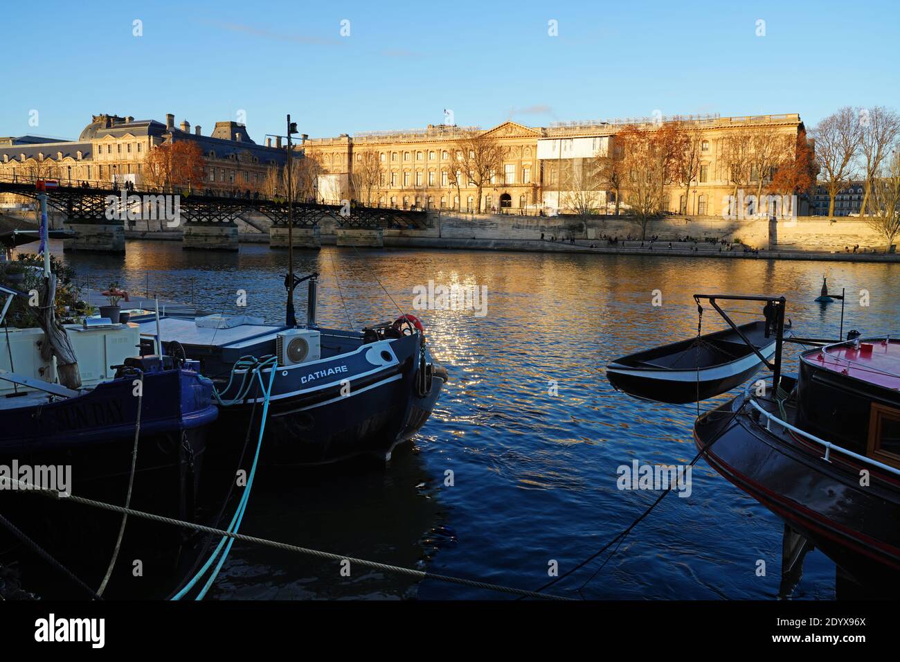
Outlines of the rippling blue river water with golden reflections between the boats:
M178 242L130 241L125 258L68 253L65 260L92 288L115 280L132 293L193 299L213 312L284 316L286 253L267 246L189 252ZM695 335L692 294L786 295L799 334L836 338L840 303L813 302L827 276L833 291L848 293L845 332L900 327L896 264L335 247L298 251L296 263L298 272L322 274L322 325L390 321L399 314L393 299L422 318L451 380L414 444L388 467L264 473L242 532L531 589L548 581L554 562L561 574L572 568L657 498L617 489L617 467L694 457L692 405L637 401L604 375L614 358ZM413 288L429 280L485 286L486 314L412 311ZM237 307L238 290L246 291L247 308ZM662 305L653 305L654 290ZM302 288L298 294L302 318ZM746 311L735 313L740 321L757 309L730 308ZM711 309L703 324L704 332L724 327ZM788 369L794 357L788 349ZM692 478L691 494L663 499L596 575L607 555L554 591L592 599L776 598L781 522L702 459ZM238 544L210 597L496 597L362 567L351 567L349 577L339 571L337 563ZM814 551L793 595L834 592L833 564Z

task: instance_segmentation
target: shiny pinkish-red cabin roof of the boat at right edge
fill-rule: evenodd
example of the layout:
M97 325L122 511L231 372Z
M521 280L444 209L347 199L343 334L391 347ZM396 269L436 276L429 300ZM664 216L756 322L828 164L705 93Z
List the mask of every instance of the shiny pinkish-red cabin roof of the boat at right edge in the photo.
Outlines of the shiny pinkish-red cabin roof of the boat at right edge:
M895 391L900 390L900 340L872 340L829 347L806 354L809 363Z

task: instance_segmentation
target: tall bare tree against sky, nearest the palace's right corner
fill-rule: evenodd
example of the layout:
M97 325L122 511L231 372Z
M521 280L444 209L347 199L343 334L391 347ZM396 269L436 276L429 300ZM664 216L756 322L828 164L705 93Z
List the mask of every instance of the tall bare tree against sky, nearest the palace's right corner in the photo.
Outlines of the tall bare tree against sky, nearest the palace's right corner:
M845 106L819 122L812 135L815 156L822 166L825 188L828 190L828 215L834 215L834 198L854 176L857 152L860 150L860 117Z

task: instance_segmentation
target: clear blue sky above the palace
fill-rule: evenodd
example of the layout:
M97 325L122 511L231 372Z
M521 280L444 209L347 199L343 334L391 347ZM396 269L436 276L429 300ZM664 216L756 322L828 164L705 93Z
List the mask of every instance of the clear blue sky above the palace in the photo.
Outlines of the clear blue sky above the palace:
M204 133L246 117L261 142L285 113L318 137L423 127L445 108L484 127L900 109L895 0L7 1L0 25L0 135L76 138L92 113L175 113Z

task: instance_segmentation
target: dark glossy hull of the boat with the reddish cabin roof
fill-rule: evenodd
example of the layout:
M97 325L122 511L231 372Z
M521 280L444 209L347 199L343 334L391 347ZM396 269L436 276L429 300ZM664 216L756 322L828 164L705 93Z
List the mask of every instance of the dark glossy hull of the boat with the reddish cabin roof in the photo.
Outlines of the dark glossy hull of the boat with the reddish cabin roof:
M772 432L734 401L702 416L695 441L711 467L803 533L863 583L900 581L900 499L896 476L837 458ZM721 435L716 439L716 435ZM860 469L871 484L860 485Z

